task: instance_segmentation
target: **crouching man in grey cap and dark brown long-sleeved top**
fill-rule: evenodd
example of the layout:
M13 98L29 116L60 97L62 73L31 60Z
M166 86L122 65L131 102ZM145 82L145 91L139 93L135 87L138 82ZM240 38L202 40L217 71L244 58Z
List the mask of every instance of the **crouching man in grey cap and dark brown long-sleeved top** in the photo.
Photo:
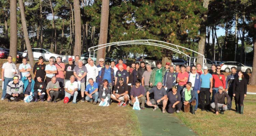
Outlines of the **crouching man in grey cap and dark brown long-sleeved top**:
M212 109L215 108L215 114L219 114L219 109L220 109L220 114L224 114L224 111L228 110L228 104L231 102L230 97L228 96L228 93L223 91L224 88L223 86L218 87L218 92L214 95L214 102L211 103ZM225 97L227 98L227 103L225 104Z

